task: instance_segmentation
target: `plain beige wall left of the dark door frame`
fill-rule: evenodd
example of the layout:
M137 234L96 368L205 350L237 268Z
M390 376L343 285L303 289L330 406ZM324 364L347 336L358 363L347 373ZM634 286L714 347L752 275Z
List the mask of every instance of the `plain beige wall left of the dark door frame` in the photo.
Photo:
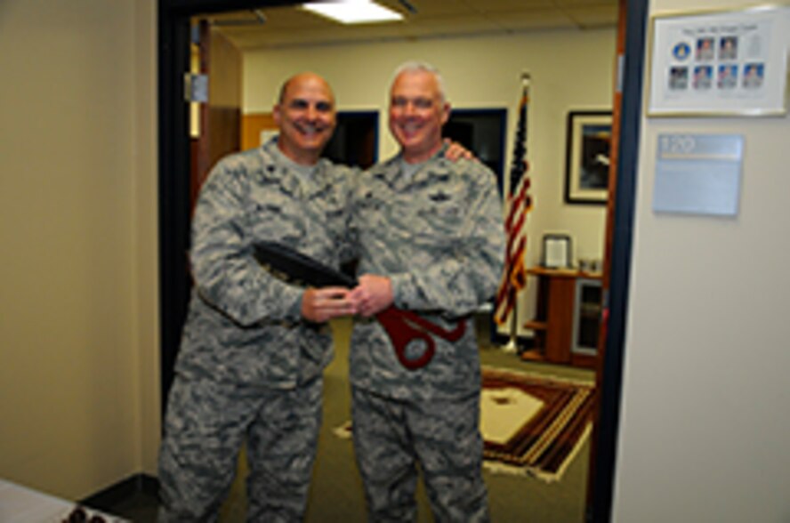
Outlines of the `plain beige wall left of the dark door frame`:
M0 4L0 477L70 498L155 463L154 17Z

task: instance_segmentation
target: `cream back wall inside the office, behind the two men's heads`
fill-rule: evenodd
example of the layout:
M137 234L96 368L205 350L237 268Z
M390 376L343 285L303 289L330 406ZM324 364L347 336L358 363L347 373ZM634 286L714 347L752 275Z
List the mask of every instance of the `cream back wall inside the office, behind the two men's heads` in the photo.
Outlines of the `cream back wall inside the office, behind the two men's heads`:
M575 259L600 259L604 207L563 203L565 123L570 110L611 109L615 36L614 28L562 30L245 52L243 112L270 111L287 76L315 71L332 84L339 109L382 111L379 157L383 159L397 150L387 129L392 72L406 60L425 60L442 72L447 98L454 107L509 110L509 168L520 76L529 72L528 159L535 211L529 217L528 261L539 261L544 231L569 232L574 237ZM522 319L533 315L534 287L521 295Z

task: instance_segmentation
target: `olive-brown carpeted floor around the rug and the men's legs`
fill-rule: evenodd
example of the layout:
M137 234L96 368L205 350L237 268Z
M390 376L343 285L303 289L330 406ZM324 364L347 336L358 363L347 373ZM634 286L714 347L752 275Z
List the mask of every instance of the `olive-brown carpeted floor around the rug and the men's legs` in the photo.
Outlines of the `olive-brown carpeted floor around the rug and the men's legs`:
M478 322L480 339L488 340L486 322ZM351 441L339 439L333 430L350 417L351 393L348 385L348 338L350 324L333 324L336 336L335 360L326 370L324 424L318 443L318 461L310 489L307 522L363 522L365 505L359 474L354 464ZM523 362L515 354L484 347L480 358L485 366L511 368L518 372L561 376L572 380L593 380L593 373L568 366ZM587 484L589 441L579 448L559 481L547 483L530 476L514 476L484 471L488 486L491 519L495 523L581 523ZM236 483L222 507L222 523L245 521L243 459ZM419 521L431 521L427 498L418 491ZM111 513L136 523L156 521L156 500L139 495L114 507Z

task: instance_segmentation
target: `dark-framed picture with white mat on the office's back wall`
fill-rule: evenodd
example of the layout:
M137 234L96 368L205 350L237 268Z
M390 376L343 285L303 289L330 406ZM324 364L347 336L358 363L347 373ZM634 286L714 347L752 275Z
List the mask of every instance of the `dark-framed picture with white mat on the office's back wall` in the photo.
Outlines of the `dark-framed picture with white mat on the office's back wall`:
M566 135L566 203L605 205L609 197L612 112L570 111Z

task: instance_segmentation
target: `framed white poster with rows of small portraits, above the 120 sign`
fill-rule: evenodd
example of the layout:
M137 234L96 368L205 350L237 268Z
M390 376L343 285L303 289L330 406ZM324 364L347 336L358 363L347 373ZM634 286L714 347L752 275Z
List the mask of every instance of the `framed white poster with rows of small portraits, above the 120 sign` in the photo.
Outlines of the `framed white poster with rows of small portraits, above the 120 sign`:
M788 34L790 6L655 15L648 116L785 115Z

